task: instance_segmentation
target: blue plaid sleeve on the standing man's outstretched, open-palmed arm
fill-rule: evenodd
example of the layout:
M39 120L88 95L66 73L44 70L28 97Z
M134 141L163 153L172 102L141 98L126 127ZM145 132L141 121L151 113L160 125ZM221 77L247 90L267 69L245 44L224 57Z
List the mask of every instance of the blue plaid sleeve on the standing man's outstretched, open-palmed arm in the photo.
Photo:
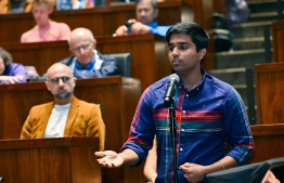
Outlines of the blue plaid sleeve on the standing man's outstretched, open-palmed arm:
M153 147L155 126L151 107L150 91L151 89L147 88L139 101L128 141L121 148L121 152L126 148L130 148L138 154L140 160L133 167L140 166L147 156L149 149Z

